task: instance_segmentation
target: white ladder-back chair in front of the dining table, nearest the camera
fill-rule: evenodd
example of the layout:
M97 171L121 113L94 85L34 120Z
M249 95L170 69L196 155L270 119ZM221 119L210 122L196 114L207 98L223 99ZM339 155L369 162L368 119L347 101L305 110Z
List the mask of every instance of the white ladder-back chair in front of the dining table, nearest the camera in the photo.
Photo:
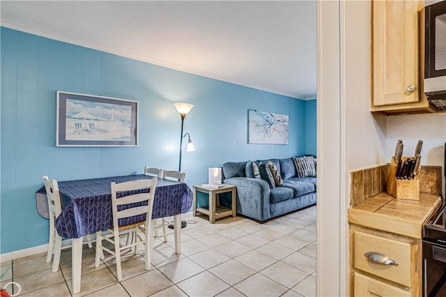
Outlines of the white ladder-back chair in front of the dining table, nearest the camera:
M111 256L104 259L107 261L108 259L116 258L116 271L118 272L118 281L121 282L123 279L122 270L121 270L121 253L126 252L128 250L132 250L133 247L136 247L134 253L136 253L139 249L138 246L140 244L144 244L145 251L145 268L149 270L151 267L151 249L152 249L152 236L148 236L152 230L152 209L153 209L153 197L155 195L155 188L157 183L157 177L152 179L142 179L137 181L127 181L124 183L112 183L112 209L113 209L113 228L108 229L111 233L103 235L102 231L96 232L96 255L95 255L95 267L98 267L100 264L100 254L102 251L106 251ZM116 197L116 192L122 191L132 191L149 188L148 193L141 194L133 194L127 195L121 198ZM118 210L118 206L122 206L125 204L133 204L141 201L147 201L146 206L137 206L132 208L127 208L125 210ZM121 218L129 218L134 215L141 215L146 213L146 220L142 222L137 222L134 224L127 224L124 226L119 226L118 219ZM139 230L140 226L144 226L144 238L137 235L134 236L135 240L127 242L124 246L120 246L120 236L128 234L138 234L137 230ZM102 240L108 241L114 245L114 250L109 250L105 246L102 245Z

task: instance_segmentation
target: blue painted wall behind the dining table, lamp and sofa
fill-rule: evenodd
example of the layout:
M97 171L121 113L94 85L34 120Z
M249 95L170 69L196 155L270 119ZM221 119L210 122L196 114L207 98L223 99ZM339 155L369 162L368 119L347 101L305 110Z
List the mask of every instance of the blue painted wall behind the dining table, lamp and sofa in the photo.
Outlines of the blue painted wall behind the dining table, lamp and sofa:
M57 90L138 100L139 146L56 147ZM47 243L49 221L35 202L43 175L63 181L178 169L174 102L195 105L185 132L196 151L183 148L182 164L190 186L226 161L315 153L305 144L316 141L316 127L305 129L306 113L316 114L309 102L2 27L0 254ZM289 144L247 144L247 109L289 114Z

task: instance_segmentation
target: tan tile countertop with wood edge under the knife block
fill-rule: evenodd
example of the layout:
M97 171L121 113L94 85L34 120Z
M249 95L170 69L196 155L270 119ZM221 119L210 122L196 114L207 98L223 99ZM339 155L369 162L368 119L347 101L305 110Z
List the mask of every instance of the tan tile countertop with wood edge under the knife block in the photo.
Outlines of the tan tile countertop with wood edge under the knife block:
M424 224L438 211L441 202L441 195L434 193L420 193L420 200L405 200L380 192L348 208L348 222L422 238Z

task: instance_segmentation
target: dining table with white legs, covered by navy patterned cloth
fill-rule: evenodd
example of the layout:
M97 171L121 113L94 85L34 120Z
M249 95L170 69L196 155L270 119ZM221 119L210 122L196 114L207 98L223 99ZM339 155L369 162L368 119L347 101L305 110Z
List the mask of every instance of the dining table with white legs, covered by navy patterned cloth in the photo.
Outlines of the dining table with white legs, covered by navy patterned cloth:
M57 233L72 241L72 290L81 289L83 236L113 227L111 183L123 183L153 178L144 174L89 178L76 181L59 181L62 211L55 220ZM146 189L148 190L148 189ZM139 190L144 191L144 190ZM129 193L122 192L121 195ZM181 252L181 213L192 207L192 190L186 183L158 178L153 200L152 219L174 217L175 252ZM45 186L36 192L38 213L48 218ZM47 203L46 203L47 204ZM140 222L144 218L131 217L120 220L120 224Z

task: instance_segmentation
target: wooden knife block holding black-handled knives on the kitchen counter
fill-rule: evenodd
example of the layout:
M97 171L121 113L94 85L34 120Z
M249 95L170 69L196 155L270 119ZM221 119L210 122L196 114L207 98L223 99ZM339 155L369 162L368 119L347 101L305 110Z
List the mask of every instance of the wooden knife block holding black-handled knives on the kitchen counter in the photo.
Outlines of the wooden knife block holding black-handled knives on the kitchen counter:
M401 157L404 162L411 157ZM418 167L415 178L397 179L397 160L392 157L389 176L387 177L387 193L398 199L419 200L420 199L420 175L421 165Z

